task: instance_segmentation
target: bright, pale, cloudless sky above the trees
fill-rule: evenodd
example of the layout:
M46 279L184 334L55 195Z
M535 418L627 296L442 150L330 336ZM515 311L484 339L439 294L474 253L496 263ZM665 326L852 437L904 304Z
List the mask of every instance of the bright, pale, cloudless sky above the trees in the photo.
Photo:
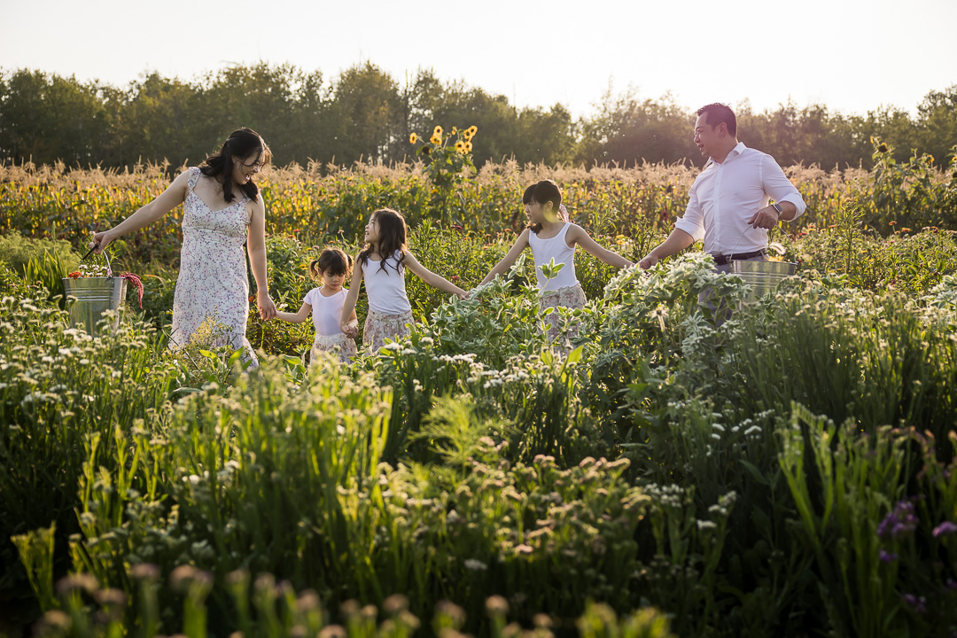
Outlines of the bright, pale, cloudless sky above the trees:
M371 61L400 84L431 68L575 116L610 85L688 110L864 115L957 83L955 26L955 0L0 0L0 67L125 85L260 59L331 79Z

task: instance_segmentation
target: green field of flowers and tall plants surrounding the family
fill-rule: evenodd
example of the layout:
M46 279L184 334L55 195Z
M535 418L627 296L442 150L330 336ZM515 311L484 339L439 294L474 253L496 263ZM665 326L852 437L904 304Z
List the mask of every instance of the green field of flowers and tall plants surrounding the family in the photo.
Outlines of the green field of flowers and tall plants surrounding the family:
M568 348L520 259L464 300L409 277L412 335L351 367L307 368L311 326L251 315L250 374L167 350L176 212L117 242L144 285L119 329L90 338L57 297L162 167L0 166L0 634L953 635L957 178L875 152L873 171L787 169L809 212L772 240L798 275L721 328L698 293L738 307L746 287L710 257L645 274L579 252ZM264 188L286 309L380 206L469 289L534 180L636 260L694 179L326 168Z

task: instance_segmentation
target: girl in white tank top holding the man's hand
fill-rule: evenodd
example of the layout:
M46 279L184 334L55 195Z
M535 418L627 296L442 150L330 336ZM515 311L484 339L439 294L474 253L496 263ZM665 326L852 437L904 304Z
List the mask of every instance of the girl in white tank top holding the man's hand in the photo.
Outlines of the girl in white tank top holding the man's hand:
M525 188L522 198L529 225L512 248L482 279L484 285L498 275L504 275L525 249L530 247L535 258L535 276L542 292L539 306L543 315L546 308L584 308L587 299L578 278L575 276L575 247L581 246L586 253L618 268L630 268L634 264L618 253L607 251L592 239L588 232L568 221L568 212L562 206L562 191L551 180L543 180ZM545 276L549 264L561 264L557 275ZM548 339L559 336L558 313L545 316ZM574 330L572 330L574 332Z

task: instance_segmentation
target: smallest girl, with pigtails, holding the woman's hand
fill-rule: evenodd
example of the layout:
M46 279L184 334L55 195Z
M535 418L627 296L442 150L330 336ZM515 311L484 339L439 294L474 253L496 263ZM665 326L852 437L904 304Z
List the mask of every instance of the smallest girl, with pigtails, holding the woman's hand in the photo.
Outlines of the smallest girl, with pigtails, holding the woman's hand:
M340 327L345 297L348 294L348 290L343 288L343 282L351 271L352 257L338 248L324 249L319 259L313 259L309 264L309 275L323 285L306 293L298 313L276 313L277 319L290 323L301 323L312 314L312 323L316 326L316 341L312 344L310 363L319 360L320 352L337 353L341 363L349 363L358 354L355 339L346 335ZM349 319L347 326L358 325L354 307Z

